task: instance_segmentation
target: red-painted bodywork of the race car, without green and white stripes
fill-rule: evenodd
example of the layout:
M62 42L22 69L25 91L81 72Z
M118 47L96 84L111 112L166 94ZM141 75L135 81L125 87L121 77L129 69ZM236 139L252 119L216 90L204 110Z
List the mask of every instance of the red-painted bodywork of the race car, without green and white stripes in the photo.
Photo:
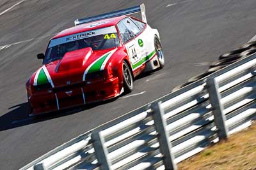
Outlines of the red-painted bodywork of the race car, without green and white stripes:
M116 26L116 24L125 17L126 16L97 21L106 23L93 28L88 28L87 26L97 22L77 25L76 27L61 31L52 39L90 31L92 29L109 27L111 25ZM83 81L83 74L86 68L88 68L88 66L95 60L99 59L99 57L113 49L115 48L93 51L92 48L83 48L81 50L65 53L61 60L45 64L53 81L54 88L36 91L33 85L36 72L33 73L26 83L26 89L29 96L28 101L31 108L33 108L32 114L38 115L56 111L58 109L56 96L58 97L60 110L84 104L82 89L86 103L104 101L118 96L123 87L122 63L126 60L131 66L127 50L125 46L122 45L122 42L106 63L106 69L104 70L103 76ZM133 72L134 76L140 74L144 68L145 64L136 69ZM67 94L67 92L70 92L70 94Z

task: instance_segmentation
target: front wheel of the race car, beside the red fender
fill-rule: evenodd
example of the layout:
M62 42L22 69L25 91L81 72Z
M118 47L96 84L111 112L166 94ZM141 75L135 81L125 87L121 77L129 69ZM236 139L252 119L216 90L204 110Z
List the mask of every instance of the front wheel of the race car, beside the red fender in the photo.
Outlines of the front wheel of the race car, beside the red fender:
M131 69L127 62L123 61L123 82L124 82L124 92L130 93L133 89L133 79Z

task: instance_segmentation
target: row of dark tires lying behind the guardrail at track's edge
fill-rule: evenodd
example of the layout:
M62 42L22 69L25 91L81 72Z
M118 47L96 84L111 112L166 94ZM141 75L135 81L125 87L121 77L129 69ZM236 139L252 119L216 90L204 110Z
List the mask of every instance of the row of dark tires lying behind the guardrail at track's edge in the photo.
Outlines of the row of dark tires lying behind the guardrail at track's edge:
M244 57L247 57L248 55L251 55L253 53L256 53L256 41L251 41L249 43L242 45L240 48L237 48L236 50L223 53L218 58L218 61L211 63L209 69L205 73L198 74L196 76L193 76L192 78L189 78L189 80L186 83L178 85L172 90L172 92L175 92L176 90L179 90L180 88L185 87L186 85L189 85L197 80L200 80L201 78L204 78L205 76L208 76L209 74L212 74L215 71L218 71L223 67L226 67L234 62L237 62L238 60L241 60Z

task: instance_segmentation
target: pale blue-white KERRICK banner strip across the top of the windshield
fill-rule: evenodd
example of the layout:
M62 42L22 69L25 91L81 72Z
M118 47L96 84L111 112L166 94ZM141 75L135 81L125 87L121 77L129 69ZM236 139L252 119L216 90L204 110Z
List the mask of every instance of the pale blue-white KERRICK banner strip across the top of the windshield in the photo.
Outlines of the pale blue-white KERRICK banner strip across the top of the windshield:
M115 33L115 32L117 32L115 26L106 27L106 28L102 28L102 29L95 29L95 30L86 31L86 32L80 32L77 34L72 34L70 36L52 39L48 48L51 48L52 46L68 43L71 41L76 41L77 39L84 39L84 38L88 38L88 37L92 37L92 36L99 36L102 34L109 34L109 33Z

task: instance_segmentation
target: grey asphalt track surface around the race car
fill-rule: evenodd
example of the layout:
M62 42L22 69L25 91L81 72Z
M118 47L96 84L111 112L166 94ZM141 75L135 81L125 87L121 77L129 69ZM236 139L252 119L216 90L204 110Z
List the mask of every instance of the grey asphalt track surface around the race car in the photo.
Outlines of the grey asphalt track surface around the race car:
M45 51L49 38L76 18L141 2L28 0L0 15L0 169L19 169L69 139L168 94L255 35L255 0L144 1L148 24L161 35L164 69L138 78L134 96L29 118L25 83L42 63L36 53ZM2 0L0 13L16 3Z

